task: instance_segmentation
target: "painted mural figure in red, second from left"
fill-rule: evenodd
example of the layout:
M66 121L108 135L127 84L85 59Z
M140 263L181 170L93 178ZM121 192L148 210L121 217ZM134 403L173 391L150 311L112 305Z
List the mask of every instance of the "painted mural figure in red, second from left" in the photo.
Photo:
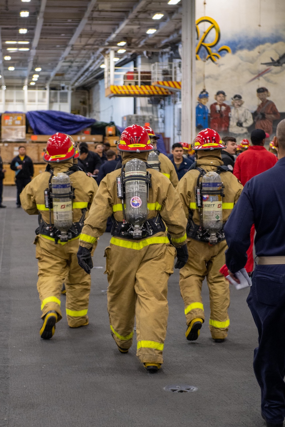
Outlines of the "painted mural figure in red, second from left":
M216 102L210 106L210 127L217 132L227 132L231 108L224 103L226 94L224 91L217 91L214 98Z

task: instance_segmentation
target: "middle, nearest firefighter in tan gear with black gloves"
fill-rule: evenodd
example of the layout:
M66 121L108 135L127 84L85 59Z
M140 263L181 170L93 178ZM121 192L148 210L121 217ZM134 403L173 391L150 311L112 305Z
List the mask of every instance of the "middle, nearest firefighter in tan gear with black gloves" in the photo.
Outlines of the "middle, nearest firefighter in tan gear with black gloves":
M186 218L173 185L147 162L153 150L147 131L127 127L120 138L122 168L106 175L79 240L78 262L90 272L90 251L112 215L105 250L111 333L121 353L132 345L136 316L137 356L149 372L163 363L168 304L167 282L188 259ZM165 231L171 235L170 245Z

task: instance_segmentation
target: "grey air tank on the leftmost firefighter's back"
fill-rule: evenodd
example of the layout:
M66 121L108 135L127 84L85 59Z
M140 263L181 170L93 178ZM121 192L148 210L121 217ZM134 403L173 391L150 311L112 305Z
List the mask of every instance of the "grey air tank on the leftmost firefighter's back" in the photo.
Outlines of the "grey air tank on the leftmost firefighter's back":
M51 178L51 188L53 194L53 222L56 228L61 231L60 241L68 241L68 230L72 226L72 198L71 181L68 175L59 172ZM68 194L67 196L61 196ZM59 197L56 197L56 196Z

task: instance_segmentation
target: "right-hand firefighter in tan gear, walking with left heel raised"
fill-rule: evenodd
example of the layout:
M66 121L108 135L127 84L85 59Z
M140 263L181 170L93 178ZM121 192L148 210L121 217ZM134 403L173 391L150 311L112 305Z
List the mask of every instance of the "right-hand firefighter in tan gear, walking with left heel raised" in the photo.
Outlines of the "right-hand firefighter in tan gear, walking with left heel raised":
M192 148L197 161L176 188L188 218L189 258L180 270L180 291L185 304L186 338L198 338L205 321L201 289L207 278L211 314L209 328L215 342L223 342L229 329L229 282L220 273L225 264L223 225L243 189L221 160L224 148L212 129L199 132Z

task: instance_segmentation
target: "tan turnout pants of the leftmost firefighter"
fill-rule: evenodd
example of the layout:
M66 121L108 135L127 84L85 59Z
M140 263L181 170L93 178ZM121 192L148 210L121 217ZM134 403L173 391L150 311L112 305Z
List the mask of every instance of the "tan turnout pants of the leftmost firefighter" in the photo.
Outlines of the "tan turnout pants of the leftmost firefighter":
M77 328L88 322L88 302L91 287L90 275L79 267L77 251L79 240L62 245L37 236L36 258L38 259L38 293L41 300L42 316L48 311L58 313L62 319L60 295L62 283L66 288L66 316L68 325Z

